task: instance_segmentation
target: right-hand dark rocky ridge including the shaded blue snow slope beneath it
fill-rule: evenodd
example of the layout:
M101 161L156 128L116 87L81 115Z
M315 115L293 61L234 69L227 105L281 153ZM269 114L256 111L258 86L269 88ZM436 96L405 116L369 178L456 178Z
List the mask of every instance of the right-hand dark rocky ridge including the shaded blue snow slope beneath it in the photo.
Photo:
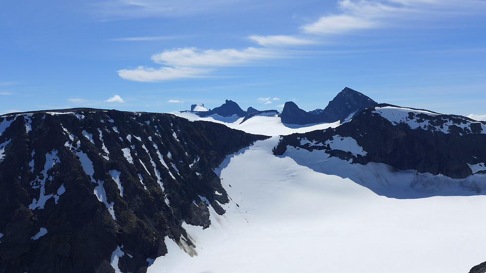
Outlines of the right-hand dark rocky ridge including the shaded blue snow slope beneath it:
M304 160L313 170L353 177L389 197L484 194L486 189L486 122L466 117L378 104L334 129L282 136L274 152L294 149L320 154L316 162ZM328 168L328 161L344 165ZM363 165L376 164L410 170L409 177L362 171Z

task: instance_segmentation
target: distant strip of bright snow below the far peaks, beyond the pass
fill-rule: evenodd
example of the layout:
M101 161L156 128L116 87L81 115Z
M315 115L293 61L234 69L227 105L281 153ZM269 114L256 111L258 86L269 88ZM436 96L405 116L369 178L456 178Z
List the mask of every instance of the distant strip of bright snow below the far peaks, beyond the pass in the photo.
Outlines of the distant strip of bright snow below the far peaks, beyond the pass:
M196 114L190 112L183 112L183 113L172 112L170 114L188 119L190 121L195 121L195 120L212 121L212 122L224 124L227 127L232 129L242 130L246 133L264 135L264 136L282 136L282 135L290 135L294 133L306 133L314 130L327 129L329 127L334 128L339 126L339 121L334 123L320 123L314 125L283 124L282 121L280 120L280 117L276 115L272 115L271 117L255 116L245 120L245 122L240 124L243 121L243 118L241 117L224 118L224 117L213 117L214 115L211 115L206 118L201 118Z

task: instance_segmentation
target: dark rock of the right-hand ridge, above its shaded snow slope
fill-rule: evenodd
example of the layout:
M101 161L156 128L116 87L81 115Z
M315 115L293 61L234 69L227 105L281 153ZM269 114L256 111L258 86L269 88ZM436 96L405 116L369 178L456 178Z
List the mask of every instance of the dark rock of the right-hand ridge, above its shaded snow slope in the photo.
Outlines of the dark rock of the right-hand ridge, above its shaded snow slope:
M309 151L325 150L330 156L353 163L385 163L398 170L443 174L451 178L465 178L473 174L469 165L486 162L486 122L397 108L378 104L335 129L283 136L274 153L281 155L290 145ZM385 113L383 109L391 112ZM401 117L403 122L392 122L386 117ZM366 154L331 149L325 144L344 137L353 138ZM302 139L311 143L301 144ZM476 171L481 172L484 171Z

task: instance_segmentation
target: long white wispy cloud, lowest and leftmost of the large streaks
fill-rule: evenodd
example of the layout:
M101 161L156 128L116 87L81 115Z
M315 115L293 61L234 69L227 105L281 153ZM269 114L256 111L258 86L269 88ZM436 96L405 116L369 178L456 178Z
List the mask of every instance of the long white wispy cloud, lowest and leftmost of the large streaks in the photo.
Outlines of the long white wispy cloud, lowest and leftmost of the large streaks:
M118 75L126 80L139 82L161 82L167 80L204 77L218 67L237 67L266 58L277 57L276 51L265 48L243 50L199 50L178 48L152 55L153 62L161 68L140 66L135 69L118 70Z

